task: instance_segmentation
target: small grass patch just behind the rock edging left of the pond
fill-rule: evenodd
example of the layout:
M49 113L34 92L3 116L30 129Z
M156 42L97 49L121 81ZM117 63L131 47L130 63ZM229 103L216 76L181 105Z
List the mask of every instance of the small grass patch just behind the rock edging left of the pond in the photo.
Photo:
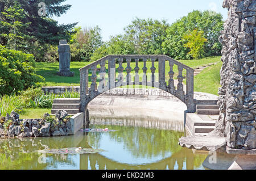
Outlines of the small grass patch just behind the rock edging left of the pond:
M51 109L24 109L19 113L20 119L39 119L44 113L51 113Z

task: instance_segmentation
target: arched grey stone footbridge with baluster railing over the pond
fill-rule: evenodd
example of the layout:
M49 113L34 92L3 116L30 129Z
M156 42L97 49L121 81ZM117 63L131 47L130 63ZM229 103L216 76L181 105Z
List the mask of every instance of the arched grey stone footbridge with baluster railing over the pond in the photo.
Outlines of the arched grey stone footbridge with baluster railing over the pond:
M131 73L131 61L135 61L135 75ZM139 61L143 68L139 74ZM118 68L115 66L118 62ZM126 68L123 68L126 62ZM147 67L150 62L150 68ZM166 78L166 66L168 81ZM177 87L174 81L174 68L177 68ZM158 67L158 73L156 68ZM126 75L123 75L123 73ZM96 96L115 87L121 86L150 86L162 89L179 98L187 105L188 112L196 112L196 101L193 98L194 69L165 55L108 55L80 69L80 112L86 113L91 100ZM183 80L187 78L184 89ZM92 82L89 87L89 79ZM97 85L98 82L98 85ZM167 85L168 83L168 85Z

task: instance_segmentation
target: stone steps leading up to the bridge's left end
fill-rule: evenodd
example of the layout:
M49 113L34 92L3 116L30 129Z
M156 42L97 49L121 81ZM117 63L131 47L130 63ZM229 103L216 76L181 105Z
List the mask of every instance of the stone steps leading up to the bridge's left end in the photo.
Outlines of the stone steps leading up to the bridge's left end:
M66 110L69 115L76 115L79 113L80 98L76 99L54 99L51 113L55 114L57 110Z

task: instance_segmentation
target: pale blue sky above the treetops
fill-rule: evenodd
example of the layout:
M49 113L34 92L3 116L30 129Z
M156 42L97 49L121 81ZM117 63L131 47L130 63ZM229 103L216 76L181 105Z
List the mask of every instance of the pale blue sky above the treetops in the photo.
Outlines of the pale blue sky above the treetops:
M72 5L66 14L53 17L59 24L78 22L77 26L101 28L103 41L110 36L123 34L123 28L135 18L166 19L169 24L193 10L214 10L225 19L228 10L223 0L67 0Z

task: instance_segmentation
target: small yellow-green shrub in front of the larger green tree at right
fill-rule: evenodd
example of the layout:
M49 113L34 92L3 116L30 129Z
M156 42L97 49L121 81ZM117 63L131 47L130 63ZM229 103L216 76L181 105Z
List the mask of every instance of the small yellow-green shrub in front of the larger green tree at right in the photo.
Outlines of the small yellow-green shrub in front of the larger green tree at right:
M207 39L204 38L204 32L198 31L197 28L192 32L189 32L187 35L184 35L184 39L188 42L184 44L184 47L189 48L193 58L201 58L204 53L204 43L207 42Z

